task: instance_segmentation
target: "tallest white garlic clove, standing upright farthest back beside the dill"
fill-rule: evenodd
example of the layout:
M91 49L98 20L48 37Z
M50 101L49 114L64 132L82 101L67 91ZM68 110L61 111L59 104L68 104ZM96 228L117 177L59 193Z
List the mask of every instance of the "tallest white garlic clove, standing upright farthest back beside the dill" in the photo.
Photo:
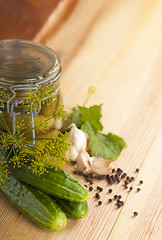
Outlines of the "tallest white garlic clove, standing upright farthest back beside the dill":
M82 130L76 127L75 123L72 123L69 133L71 135L72 144L76 147L77 151L81 152L85 150L87 147L87 137Z

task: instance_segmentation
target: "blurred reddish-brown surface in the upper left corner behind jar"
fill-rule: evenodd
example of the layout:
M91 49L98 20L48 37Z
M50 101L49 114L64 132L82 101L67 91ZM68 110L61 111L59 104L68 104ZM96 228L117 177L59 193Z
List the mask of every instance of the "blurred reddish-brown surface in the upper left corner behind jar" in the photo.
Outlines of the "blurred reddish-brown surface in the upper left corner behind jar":
M39 39L40 36L43 38L44 32L47 36L47 32L53 30L53 18L57 18L59 24L64 22L75 2L73 0L1 0L0 40Z

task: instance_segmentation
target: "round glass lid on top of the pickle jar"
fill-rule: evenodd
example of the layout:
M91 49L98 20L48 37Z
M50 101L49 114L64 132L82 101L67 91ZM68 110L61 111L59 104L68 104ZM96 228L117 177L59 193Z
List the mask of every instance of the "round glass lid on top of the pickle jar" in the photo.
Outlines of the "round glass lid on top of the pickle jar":
M0 41L1 85L41 85L57 80L60 74L60 59L48 46L30 40Z

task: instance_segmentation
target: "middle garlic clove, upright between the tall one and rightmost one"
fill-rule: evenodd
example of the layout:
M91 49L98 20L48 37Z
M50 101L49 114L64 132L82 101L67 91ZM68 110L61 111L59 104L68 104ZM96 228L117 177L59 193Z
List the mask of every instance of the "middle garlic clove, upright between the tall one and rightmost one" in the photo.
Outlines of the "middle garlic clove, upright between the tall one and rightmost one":
M80 152L76 160L76 169L78 171L89 172L91 170L89 158L90 156L85 150Z

